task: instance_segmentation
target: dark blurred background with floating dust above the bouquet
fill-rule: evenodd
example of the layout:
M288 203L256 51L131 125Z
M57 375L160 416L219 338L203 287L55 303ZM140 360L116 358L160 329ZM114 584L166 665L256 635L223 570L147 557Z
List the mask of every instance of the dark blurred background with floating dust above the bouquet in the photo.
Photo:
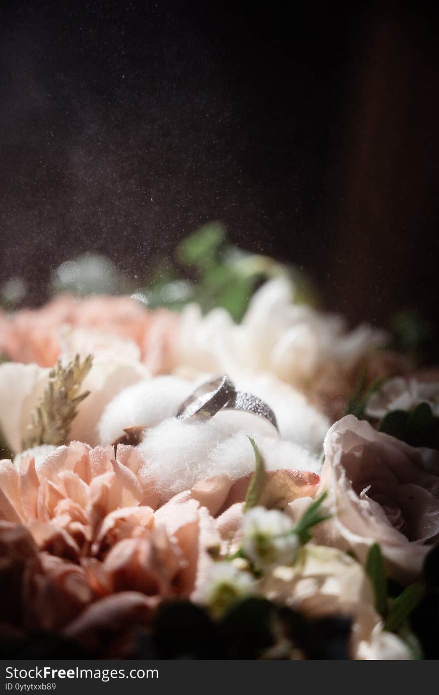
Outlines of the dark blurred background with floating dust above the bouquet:
M208 220L326 307L437 318L433 3L2 3L0 281L146 275Z

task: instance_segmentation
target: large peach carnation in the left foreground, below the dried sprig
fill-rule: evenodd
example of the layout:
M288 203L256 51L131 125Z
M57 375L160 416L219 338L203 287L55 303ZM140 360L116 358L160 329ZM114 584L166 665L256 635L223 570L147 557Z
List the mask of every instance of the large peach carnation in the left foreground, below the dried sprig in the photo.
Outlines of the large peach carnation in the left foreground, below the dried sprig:
M154 512L158 494L140 466L130 446L115 455L113 447L79 442L56 448L36 468L31 455L19 470L0 461L0 521L26 526L25 554L38 555L34 574L58 586L71 573L58 561L73 565L88 602L121 591L157 601L197 589L212 562L208 548L220 542L215 521L190 491Z

